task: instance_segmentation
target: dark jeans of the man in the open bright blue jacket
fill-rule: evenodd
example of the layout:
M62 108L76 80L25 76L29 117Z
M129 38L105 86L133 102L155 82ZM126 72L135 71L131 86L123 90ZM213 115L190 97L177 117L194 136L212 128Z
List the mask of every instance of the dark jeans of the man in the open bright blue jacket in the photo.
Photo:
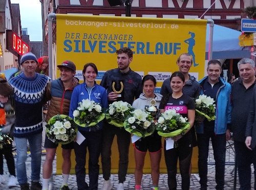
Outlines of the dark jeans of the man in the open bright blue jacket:
M203 134L197 133L198 142L198 170L201 188L207 187L207 159L209 152L209 140L211 139L214 149L215 159L215 179L216 189L224 189L225 173L225 152L226 152L226 134L215 134L213 131L204 131Z

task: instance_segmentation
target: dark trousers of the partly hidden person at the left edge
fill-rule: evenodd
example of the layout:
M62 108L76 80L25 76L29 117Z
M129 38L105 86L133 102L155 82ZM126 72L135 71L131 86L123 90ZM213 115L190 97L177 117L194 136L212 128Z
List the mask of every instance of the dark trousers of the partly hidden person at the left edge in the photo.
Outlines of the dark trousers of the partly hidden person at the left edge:
M12 155L12 144L4 145L3 149L0 149L0 175L4 174L4 158L3 154L5 155L8 171L10 175L15 175L15 164L14 158Z

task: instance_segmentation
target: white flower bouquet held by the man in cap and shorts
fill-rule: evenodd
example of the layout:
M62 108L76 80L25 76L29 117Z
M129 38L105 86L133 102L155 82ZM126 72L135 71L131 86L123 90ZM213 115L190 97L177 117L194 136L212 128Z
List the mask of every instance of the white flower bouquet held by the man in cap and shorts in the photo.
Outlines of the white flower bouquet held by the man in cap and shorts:
M53 116L46 125L47 137L58 144L71 143L77 134L77 125L66 115Z

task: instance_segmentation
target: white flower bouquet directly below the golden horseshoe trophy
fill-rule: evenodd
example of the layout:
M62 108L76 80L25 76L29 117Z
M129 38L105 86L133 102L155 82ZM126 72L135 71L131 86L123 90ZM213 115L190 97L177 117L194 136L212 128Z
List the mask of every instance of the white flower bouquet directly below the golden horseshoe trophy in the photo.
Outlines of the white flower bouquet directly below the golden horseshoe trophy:
M123 127L123 122L133 111L131 104L123 101L115 101L106 110L106 121L116 127Z

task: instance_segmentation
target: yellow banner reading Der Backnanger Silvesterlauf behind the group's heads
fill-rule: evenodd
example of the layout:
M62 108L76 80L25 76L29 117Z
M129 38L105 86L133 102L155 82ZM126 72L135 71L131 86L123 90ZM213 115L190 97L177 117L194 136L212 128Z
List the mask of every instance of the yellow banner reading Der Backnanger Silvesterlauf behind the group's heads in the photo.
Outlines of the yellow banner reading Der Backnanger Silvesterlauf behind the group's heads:
M101 80L104 72L117 67L116 49L134 52L132 70L152 74L161 87L178 70L177 58L188 52L196 65L191 75L204 76L207 20L141 17L111 17L57 14L57 65L71 60L82 78L83 65L96 64Z

